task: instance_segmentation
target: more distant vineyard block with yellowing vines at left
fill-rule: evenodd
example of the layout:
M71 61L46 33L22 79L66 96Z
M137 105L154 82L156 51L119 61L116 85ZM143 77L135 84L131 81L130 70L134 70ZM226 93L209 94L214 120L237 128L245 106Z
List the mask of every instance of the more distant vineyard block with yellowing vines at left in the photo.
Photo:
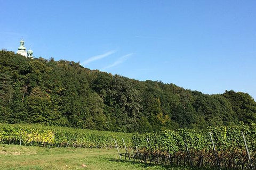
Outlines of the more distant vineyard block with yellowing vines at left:
M0 143L43 147L115 147L122 138L131 147L131 133L43 126L37 124L0 124Z

